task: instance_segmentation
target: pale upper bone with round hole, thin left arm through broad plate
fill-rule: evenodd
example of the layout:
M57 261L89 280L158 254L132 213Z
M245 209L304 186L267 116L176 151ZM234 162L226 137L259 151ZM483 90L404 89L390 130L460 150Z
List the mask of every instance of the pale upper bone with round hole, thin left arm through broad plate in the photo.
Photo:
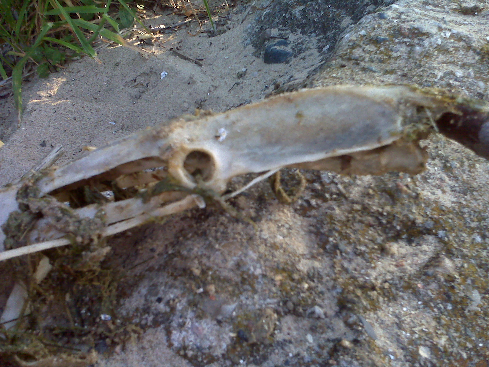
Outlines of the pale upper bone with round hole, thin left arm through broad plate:
M390 144L400 138L404 117L415 109L413 101L433 104L407 86L337 86L278 95L221 114L180 118L170 127L116 140L60 167L37 185L49 193L81 181L115 179L166 165L182 185L193 188L196 183L184 162L199 151L213 164L204 185L222 192L237 175ZM228 134L219 141L216 134L221 129Z

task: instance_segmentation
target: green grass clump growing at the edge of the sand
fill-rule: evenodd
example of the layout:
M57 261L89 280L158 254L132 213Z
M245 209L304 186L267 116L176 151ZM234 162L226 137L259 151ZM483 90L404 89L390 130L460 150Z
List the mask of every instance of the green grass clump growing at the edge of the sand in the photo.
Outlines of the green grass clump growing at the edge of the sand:
M98 60L95 41L102 38L127 46L120 29L141 23L124 0L60 1L0 1L0 87L12 83L19 123L23 77L33 72L46 77L82 55Z

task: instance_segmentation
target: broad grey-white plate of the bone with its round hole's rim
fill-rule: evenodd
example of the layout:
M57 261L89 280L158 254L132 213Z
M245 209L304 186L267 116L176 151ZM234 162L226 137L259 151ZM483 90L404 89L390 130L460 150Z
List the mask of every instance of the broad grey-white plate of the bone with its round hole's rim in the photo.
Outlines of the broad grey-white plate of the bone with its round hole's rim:
M170 140L176 152L169 172L195 187L183 168L186 154L206 152L214 175L204 181L218 192L234 176L275 170L387 145L403 130L400 114L408 87L331 87L279 95L191 121ZM394 95L394 97L392 97ZM216 135L225 131L220 139Z

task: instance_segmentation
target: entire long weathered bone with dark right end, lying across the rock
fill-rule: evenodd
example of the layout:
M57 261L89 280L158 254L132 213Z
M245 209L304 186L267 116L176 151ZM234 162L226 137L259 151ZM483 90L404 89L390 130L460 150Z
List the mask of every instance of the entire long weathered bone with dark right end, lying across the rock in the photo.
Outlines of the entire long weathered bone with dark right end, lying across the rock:
M283 167L352 175L416 174L427 159L418 142L433 126L489 158L485 104L409 86L302 90L220 114L183 116L170 126L142 131L62 167L44 170L32 182L0 189L0 225L8 224L10 213L19 210L17 195L26 184L37 188L40 198L51 195L60 200L82 186L152 193L149 201L133 196L72 210L77 218L102 215L106 228L99 234L107 236L153 216L195 206L201 199L188 196L191 190L222 193L233 177L246 173L268 172L251 184ZM149 185L167 177L184 191L176 192L174 187L153 194ZM43 243L0 253L0 260L68 244L63 238L66 233L50 226L52 220L40 219L25 237ZM0 231L1 246L5 238Z

